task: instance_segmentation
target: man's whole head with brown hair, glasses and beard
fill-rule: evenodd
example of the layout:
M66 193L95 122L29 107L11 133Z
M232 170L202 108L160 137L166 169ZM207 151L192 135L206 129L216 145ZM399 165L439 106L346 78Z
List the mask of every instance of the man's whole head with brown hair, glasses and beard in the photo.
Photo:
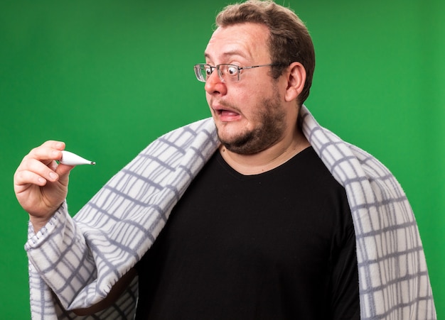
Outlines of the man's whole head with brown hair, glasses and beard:
M301 59L308 50L299 48L304 37L312 48L306 28L290 10L261 1L228 6L217 23L205 63L195 65L195 73L205 82L221 143L238 155L293 148L302 135L296 126L299 106L311 84ZM311 72L313 63L308 68Z

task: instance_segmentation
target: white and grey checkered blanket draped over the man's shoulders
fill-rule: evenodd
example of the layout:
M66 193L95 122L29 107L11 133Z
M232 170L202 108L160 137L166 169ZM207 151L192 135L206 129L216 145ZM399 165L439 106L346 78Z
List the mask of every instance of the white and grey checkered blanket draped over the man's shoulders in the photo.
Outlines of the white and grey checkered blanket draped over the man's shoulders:
M436 319L417 223L400 184L379 161L318 125L303 131L345 187L357 243L361 319ZM132 319L137 279L109 309L75 316L107 296L149 250L178 199L219 145L211 118L156 139L72 219L66 203L28 228L33 319Z

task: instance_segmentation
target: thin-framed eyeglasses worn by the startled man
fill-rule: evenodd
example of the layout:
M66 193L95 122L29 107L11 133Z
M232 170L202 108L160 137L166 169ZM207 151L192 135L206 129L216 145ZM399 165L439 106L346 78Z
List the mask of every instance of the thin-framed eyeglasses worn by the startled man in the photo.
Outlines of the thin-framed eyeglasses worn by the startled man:
M212 75L213 71L216 69L218 76L223 82L235 82L240 81L240 70L253 69L257 67L269 67L271 65L281 65L280 63L269 63L269 65L251 65L250 67L238 67L237 65L206 65L205 63L198 63L195 65L195 75L196 79L200 82L207 82L208 77Z

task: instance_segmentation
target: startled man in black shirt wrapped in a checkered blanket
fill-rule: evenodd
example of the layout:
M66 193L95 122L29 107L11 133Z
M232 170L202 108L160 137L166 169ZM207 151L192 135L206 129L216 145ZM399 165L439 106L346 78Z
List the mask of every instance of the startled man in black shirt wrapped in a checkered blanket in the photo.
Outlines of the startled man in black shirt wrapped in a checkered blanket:
M74 220L73 167L55 162L65 145L23 159L33 314L129 317L137 279L136 319L434 319L402 190L303 106L315 65L304 24L247 1L217 26L195 65L213 121L156 140Z

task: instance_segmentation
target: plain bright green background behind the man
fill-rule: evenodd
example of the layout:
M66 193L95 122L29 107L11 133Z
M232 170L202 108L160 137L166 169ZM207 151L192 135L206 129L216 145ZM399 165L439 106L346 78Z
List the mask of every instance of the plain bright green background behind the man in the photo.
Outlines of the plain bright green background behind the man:
M282 3L283 1L279 1ZM28 319L27 214L12 177L48 139L95 160L70 176L72 213L151 140L210 116L193 65L227 1L0 3L0 318ZM413 206L445 318L445 1L284 1L317 67L306 105L379 158Z

